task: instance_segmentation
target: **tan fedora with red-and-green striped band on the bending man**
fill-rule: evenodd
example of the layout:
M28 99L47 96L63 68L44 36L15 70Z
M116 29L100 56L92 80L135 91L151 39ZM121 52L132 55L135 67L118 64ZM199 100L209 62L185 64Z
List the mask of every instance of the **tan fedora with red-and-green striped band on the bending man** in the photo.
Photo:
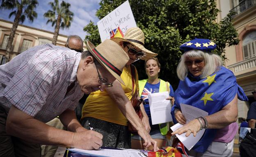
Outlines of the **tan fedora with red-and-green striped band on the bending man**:
M106 39L97 47L87 41L87 49L98 60L101 65L107 69L121 84L125 85L120 75L123 67L129 61L129 56L119 44Z

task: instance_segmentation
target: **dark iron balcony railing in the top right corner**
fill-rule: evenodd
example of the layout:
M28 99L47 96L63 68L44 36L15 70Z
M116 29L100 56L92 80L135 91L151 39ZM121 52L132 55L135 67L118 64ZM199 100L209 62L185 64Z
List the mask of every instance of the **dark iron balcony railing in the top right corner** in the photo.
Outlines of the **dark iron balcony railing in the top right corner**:
M233 9L230 10L235 12L235 15L233 15L232 18L235 18L235 16L239 15L240 13L246 11L250 7L254 6L256 4L256 0L243 0L238 4L238 6L234 7Z

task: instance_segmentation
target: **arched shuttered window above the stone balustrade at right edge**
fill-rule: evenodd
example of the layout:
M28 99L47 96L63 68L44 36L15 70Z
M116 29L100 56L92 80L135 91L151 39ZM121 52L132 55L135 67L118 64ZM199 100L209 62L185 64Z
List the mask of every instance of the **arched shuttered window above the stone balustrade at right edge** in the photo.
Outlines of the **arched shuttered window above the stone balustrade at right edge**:
M256 56L256 31L247 34L242 40L244 60Z

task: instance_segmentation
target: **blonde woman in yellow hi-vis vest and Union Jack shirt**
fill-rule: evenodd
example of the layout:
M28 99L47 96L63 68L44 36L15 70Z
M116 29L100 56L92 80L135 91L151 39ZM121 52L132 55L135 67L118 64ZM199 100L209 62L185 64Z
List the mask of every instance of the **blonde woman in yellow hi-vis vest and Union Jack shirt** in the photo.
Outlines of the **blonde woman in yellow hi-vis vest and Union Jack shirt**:
M169 128L167 128L166 123L152 125L148 94L169 91L170 97L167 98L167 100L171 100L172 102L174 101L172 98L174 95L172 86L169 84L169 82L165 82L164 80L158 78L160 68L161 65L157 58L153 57L149 60L146 60L145 69L149 78L145 80L139 80L139 96L144 100L144 108L146 114L149 117L149 124L151 127L149 134L155 141L157 141L158 148L162 148L162 142L165 139L165 135L167 134ZM144 149L142 144L143 139L139 135L132 136L133 149ZM149 147L149 149L152 150L153 148Z

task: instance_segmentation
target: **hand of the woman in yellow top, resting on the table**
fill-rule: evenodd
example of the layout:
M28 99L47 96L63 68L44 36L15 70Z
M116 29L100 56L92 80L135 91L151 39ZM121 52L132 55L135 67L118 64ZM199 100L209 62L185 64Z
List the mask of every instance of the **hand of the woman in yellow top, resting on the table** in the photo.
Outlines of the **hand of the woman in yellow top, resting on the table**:
M151 138L151 136L149 135L149 133L147 133L144 127L138 129L138 134L144 140L144 144L143 144L144 147L148 148L149 146L153 145L154 151L159 150L157 146L157 142Z

